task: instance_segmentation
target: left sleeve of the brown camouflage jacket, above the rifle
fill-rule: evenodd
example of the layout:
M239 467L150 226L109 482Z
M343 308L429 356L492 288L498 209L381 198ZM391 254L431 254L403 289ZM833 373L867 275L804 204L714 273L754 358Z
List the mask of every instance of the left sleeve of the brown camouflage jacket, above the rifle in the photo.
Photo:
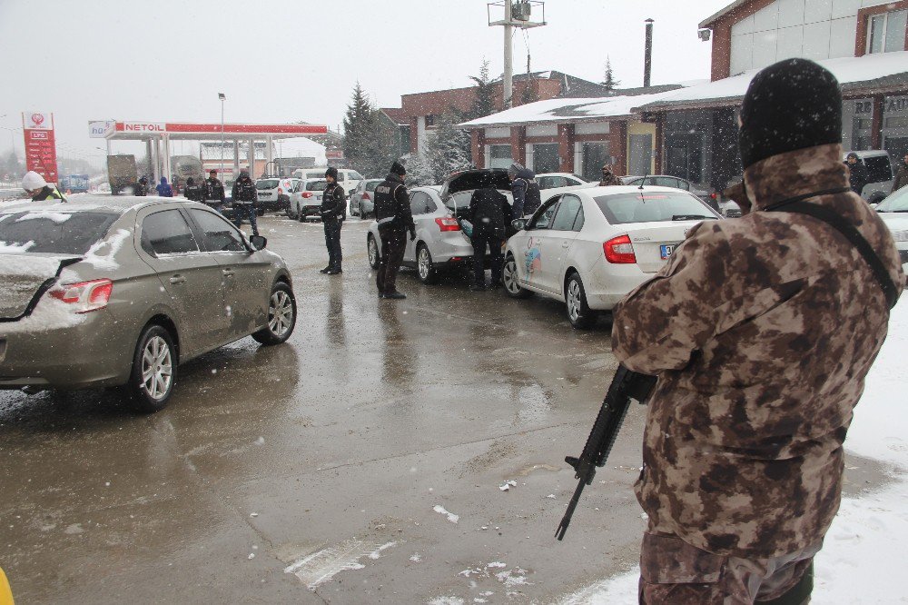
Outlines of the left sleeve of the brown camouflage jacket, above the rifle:
M791 296L802 283L762 283L719 221L696 225L672 260L614 311L612 350L635 372L683 369L716 334ZM746 265L746 266L745 266Z

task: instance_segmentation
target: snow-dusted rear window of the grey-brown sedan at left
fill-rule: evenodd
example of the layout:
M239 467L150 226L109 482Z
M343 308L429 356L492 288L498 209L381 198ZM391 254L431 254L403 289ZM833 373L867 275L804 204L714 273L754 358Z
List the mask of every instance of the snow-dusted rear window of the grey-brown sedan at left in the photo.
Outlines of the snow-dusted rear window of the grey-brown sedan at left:
M0 214L0 253L84 254L119 217L116 213Z

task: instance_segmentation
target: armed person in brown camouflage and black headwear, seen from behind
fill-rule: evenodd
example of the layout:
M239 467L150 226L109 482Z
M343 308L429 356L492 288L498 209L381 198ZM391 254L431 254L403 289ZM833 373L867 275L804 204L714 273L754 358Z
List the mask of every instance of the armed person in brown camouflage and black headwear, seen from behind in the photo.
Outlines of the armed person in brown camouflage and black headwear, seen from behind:
M636 486L641 603L809 600L845 432L903 289L892 236L849 189L834 76L770 65L740 120L731 194L745 216L696 225L614 313L617 358L659 377ZM815 213L785 211L799 200L844 218L866 255Z

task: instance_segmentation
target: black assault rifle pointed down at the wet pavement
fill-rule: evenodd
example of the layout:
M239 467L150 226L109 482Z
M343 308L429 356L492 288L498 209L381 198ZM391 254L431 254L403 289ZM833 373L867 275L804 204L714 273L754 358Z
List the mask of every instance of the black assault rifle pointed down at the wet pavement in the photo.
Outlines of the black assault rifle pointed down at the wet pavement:
M615 378L608 386L606 401L602 402L599 415L596 417L596 422L593 423L593 430L589 431L583 452L579 458L573 456L565 458L565 461L574 467L574 471L577 471L575 476L580 481L577 483L574 497L568 503L568 511L565 511L565 516L561 519L558 530L555 531L558 540L564 539L570 518L574 515L574 509L577 508L577 501L580 500L580 494L585 486L593 482L596 467L605 465L608 452L612 451L612 445L615 444L621 423L624 422L627 415L630 400L636 399L637 402L646 403L654 386L656 386L656 376L631 372L623 365L618 366Z

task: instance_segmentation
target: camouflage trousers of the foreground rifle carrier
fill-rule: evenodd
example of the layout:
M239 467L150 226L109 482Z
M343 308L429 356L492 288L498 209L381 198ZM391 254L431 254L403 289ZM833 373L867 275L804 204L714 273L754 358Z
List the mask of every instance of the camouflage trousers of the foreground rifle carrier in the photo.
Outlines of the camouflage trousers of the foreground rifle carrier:
M700 550L674 534L647 531L640 551L640 603L807 603L813 578L811 565L821 546L822 542L772 559L742 559Z

